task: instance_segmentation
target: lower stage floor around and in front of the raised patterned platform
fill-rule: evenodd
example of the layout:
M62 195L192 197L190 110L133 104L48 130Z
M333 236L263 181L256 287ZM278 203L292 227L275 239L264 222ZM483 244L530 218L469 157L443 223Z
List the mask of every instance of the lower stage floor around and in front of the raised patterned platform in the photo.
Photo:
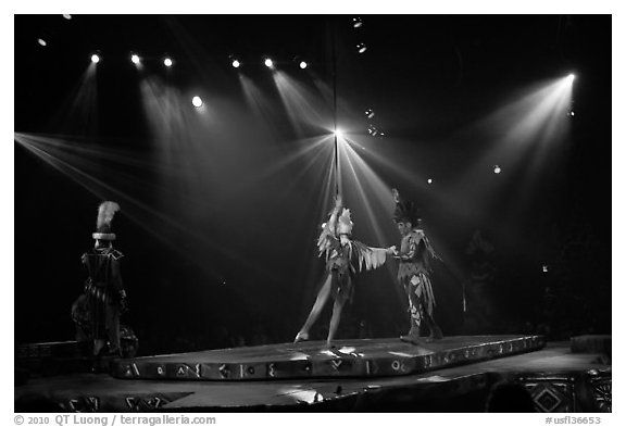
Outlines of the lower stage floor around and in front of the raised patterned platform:
M105 374L33 378L15 387L15 400L17 405L18 401L27 402L29 397L46 399L64 411L80 412L314 411L315 407L322 411L481 412L484 395L494 381L527 378L537 389L538 404L543 404L544 411L576 412L580 407L575 402L565 394L556 394L563 389L551 386L554 378L567 382L567 378L581 373L606 368L610 369L610 365L598 354L572 353L569 342L561 342L530 353L391 377L246 382L122 380ZM541 378L550 382L538 389ZM471 395L478 398L473 402Z

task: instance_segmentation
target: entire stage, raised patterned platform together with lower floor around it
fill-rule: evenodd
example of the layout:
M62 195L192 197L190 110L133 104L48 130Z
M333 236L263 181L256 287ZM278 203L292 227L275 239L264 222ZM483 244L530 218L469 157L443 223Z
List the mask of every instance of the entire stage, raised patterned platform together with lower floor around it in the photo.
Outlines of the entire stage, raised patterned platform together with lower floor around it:
M516 354L508 352L516 349L516 346L523 347L521 342L527 342L526 350ZM483 339L449 337L436 343L425 342L411 347L387 339L348 340L338 343L338 349L330 353L323 350L323 342L308 342L137 357L132 361L117 360L111 365L114 368L112 374L118 373L115 369L125 366L125 363L154 362L163 364L165 372L177 364L192 368L200 365L200 376L195 378L163 376L143 379L124 376L124 379L121 379L108 374L85 373L30 377L25 384L15 387L15 411L484 412L490 391L501 381L523 385L531 395L537 412L612 410L611 362L606 354L596 352L597 346L588 346L588 350L584 352L573 352L569 341L544 343L541 337L535 336ZM450 355L454 352L459 354L461 349L465 349L470 356L473 353L472 348L477 349L476 355L480 353L478 349L485 349L484 357L459 360L459 356ZM348 351L349 349L353 350ZM225 354L229 355L227 362ZM208 355L213 359L206 359ZM392 360L398 360L406 362L404 366L412 366L415 371L405 369L402 373L401 369L391 368L393 374L388 376L380 375L381 371L372 376L352 375L355 371L327 375L325 373L330 371L322 371L320 376L300 373L289 374L289 377L248 380L243 377L201 377L203 363L263 365L268 363L265 359L268 355L271 361L281 363L292 362L291 357L295 355L310 357L321 364L333 360L350 360L349 357L368 357L377 364L389 364ZM431 363L426 367L425 364L421 365L422 362L416 362L428 355L437 365ZM190 356L197 359L191 360ZM259 361L259 357L265 362ZM342 364L343 362L338 367ZM143 365L137 366L140 369ZM418 366L423 369L420 371ZM143 367L148 373L152 369ZM187 368L180 371L185 369ZM287 375L285 371L283 373Z

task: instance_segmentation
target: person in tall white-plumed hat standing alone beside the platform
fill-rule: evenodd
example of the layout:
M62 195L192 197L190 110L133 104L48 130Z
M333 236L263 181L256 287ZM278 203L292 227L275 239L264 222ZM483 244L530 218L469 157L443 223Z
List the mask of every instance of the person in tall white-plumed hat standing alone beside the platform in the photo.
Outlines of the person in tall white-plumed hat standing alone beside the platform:
M85 294L89 313L89 325L93 340L93 355L121 355L120 316L126 311L126 291L120 273L122 252L113 249L115 234L111 222L120 205L102 202L98 209L97 230L93 249L83 254L89 277L85 282ZM109 349L104 346L109 341Z

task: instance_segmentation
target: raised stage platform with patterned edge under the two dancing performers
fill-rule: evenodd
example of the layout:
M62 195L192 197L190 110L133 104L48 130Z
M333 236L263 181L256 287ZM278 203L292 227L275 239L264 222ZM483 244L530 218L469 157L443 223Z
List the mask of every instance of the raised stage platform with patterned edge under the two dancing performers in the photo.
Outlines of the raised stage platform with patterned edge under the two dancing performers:
M540 336L447 337L420 344L389 339L338 340L245 347L115 360L116 378L270 380L286 378L389 377L535 351Z

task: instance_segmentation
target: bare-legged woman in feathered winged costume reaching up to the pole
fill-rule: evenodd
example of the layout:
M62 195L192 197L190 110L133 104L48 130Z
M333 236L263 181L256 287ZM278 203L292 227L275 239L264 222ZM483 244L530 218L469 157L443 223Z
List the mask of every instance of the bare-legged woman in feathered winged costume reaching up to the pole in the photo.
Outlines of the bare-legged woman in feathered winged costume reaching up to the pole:
M313 309L296 336L295 342L309 339L309 330L322 313L328 297L333 296L335 304L326 344L328 348L334 347L333 339L339 326L341 310L346 301L352 298L356 268L362 271L363 265L366 269L377 268L385 264L388 254L396 252L396 247L370 248L360 241L352 240L353 225L350 219L350 210L343 209L341 196L337 196L330 217L327 223L322 224L322 234L317 239L320 256L323 254L326 256L326 275Z

